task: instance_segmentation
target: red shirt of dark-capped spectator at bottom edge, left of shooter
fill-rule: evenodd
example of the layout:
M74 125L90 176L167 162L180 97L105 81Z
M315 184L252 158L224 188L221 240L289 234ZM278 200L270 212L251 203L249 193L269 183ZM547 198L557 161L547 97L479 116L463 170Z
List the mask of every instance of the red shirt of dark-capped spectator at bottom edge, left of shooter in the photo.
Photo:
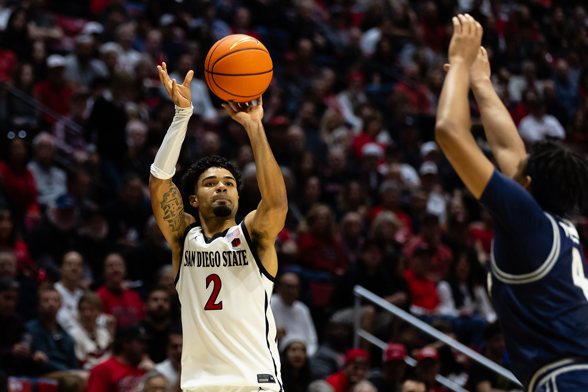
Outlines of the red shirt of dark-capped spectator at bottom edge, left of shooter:
M86 392L134 392L145 372L111 358L90 371Z

